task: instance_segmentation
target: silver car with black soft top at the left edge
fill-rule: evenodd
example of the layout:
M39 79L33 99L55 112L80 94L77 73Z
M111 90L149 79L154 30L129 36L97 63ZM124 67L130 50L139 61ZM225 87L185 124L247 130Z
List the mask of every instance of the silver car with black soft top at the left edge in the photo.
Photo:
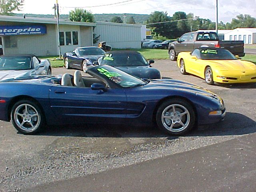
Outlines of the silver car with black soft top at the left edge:
M48 59L40 60L32 54L0 56L0 80L51 74L52 68Z

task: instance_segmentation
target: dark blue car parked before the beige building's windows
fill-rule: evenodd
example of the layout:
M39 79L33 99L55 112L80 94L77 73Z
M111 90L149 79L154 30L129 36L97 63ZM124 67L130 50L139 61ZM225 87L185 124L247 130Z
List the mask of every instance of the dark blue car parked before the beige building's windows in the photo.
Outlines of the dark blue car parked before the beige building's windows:
M99 47L78 47L72 52L63 55L64 66L67 69L74 68L87 71L88 66L92 66L94 61L102 57L106 52Z

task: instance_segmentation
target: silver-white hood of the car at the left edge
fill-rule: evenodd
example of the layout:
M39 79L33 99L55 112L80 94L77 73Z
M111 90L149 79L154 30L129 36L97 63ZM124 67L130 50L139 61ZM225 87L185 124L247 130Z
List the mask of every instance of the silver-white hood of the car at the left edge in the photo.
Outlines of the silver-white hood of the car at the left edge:
M31 70L0 70L0 81L18 77L31 76Z

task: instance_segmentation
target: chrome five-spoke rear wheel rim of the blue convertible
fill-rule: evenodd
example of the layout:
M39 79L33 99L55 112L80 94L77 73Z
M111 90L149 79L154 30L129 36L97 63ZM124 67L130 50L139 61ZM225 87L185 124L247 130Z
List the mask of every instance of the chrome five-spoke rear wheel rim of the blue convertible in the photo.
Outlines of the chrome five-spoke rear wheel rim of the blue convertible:
M21 104L14 111L16 125L26 132L32 132L40 125L40 115L30 104Z

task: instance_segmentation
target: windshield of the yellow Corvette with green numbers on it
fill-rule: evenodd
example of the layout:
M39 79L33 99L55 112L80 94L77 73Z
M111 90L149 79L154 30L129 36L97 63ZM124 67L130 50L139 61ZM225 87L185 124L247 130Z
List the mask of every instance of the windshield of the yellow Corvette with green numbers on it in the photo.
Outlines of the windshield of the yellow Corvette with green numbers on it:
M200 50L200 58L202 60L237 60L237 58L225 49L204 49Z

